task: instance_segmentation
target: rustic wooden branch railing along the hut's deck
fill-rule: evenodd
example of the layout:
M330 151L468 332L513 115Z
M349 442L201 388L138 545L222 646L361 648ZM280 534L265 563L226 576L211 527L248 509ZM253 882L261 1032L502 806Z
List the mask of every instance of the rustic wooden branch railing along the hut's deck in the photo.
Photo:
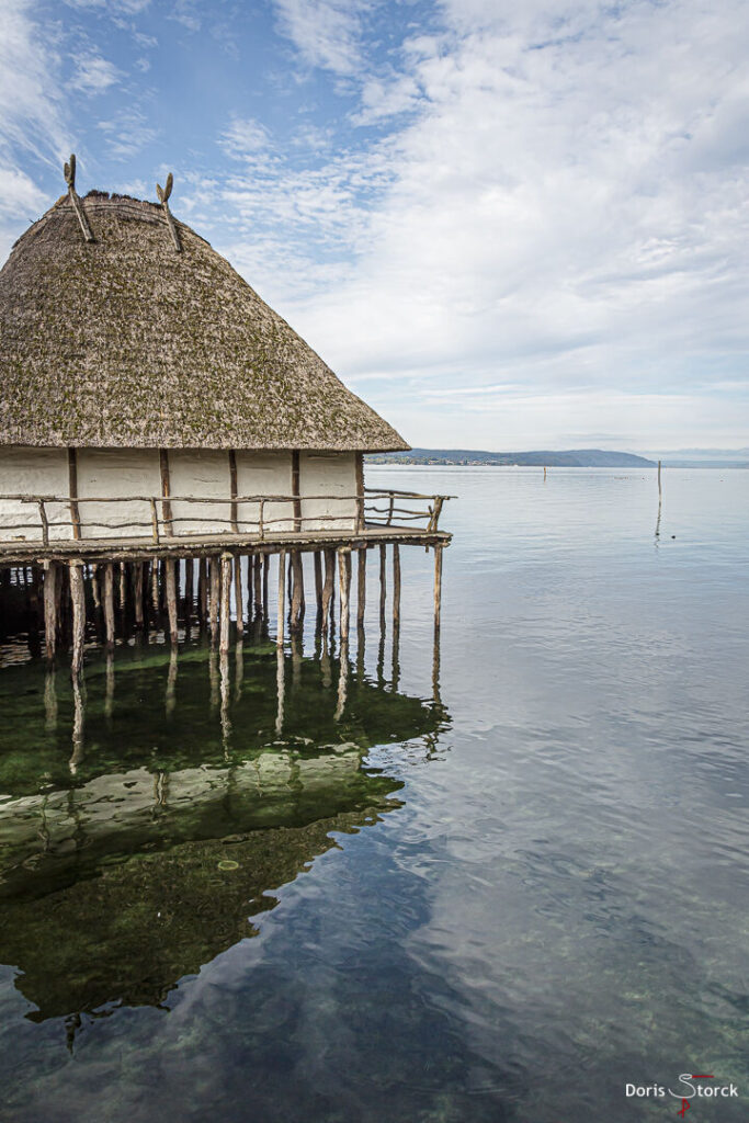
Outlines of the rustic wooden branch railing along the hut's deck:
M154 542L162 541L164 537L195 537L195 532L189 532L189 535L185 532L182 535L179 531L175 532L174 526L179 522L190 522L193 524L208 523L212 529L209 530L205 528L205 533L255 533L255 529L240 530L240 524L244 524L256 528L261 540L264 540L268 533L273 533L274 527L282 524L284 531L293 530L294 532L304 533L305 531L321 529L320 523L329 523L331 524L331 529L336 529L335 524L337 523L345 523L346 526L341 529L350 529L351 532L360 532L367 527L407 529L404 524L408 524L408 529L411 529L413 523L419 523L418 528L413 529L433 532L437 530L442 504L445 500L450 497L449 495L421 495L418 492L381 491L374 487L365 487L363 492L355 495L79 495L75 499L71 499L67 495L0 495L0 542L18 541L18 538L13 539L9 537L18 531L35 531L36 533L31 540L38 541L38 533L42 544L49 546L51 532L53 532L54 540L70 541L71 539L82 537L82 528L85 529L86 523L89 527L99 527L107 531L104 536L107 538L111 537L109 532L112 530L144 530L146 533L141 537L149 537ZM413 506L405 505L409 501L426 502L427 506L426 509L414 509ZM25 521L13 524L6 522L6 519L10 517L10 512L3 513L2 504L10 502L24 503L30 508L35 508L36 518L29 522ZM304 514L304 504L308 502L326 502L328 504L348 503L351 506L342 514L329 514L326 512ZM95 511L86 519L85 505L90 503L108 504L110 508L112 505L122 506L126 503L147 504L148 521L145 521L145 519L143 521L139 519L126 519L121 522L102 522L97 518L99 512ZM192 504L197 508L200 504L210 504L211 506L227 505L229 512L226 520L222 518L217 519L214 514L201 517L192 511L189 514L176 514L175 506L180 503ZM268 512L270 506L277 506L278 504L287 504L287 513L278 515L275 510ZM241 510L243 505L254 506L256 511ZM83 512L81 508L84 508ZM268 517L270 513L273 517ZM65 517L60 518L61 514ZM255 518L252 518L252 514L255 514ZM217 527L217 523L221 526ZM223 523L226 523L226 529L223 528ZM304 527L305 523L307 528ZM70 538L67 536L60 538L54 533L61 529L70 529ZM89 533L84 537L97 538L102 536ZM26 536L21 535L20 539L26 539Z

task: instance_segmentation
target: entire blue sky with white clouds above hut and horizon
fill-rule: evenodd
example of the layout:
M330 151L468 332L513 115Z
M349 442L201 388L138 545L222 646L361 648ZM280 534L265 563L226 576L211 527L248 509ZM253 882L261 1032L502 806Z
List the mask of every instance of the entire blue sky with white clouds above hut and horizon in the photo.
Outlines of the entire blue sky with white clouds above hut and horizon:
M413 445L746 447L746 0L0 0L0 257L170 206Z

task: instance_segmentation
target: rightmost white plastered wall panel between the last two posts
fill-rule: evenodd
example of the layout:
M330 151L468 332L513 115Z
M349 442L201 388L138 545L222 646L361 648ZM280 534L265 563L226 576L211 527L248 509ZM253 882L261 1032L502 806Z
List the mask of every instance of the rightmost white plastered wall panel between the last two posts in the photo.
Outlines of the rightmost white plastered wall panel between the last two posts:
M299 491L303 530L356 529L356 454L301 453ZM321 495L323 499L304 499Z

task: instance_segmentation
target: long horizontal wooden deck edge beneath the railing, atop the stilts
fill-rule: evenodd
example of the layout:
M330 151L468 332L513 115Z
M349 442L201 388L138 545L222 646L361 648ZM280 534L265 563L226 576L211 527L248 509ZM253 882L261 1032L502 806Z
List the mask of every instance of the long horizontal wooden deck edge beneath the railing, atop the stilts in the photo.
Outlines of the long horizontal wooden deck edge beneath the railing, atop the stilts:
M362 531L338 535L335 531L312 533L278 533L258 538L256 535L211 535L202 538L162 538L115 541L77 539L44 546L42 542L0 541L0 567L33 565L44 562L135 562L139 558L211 557L229 554L277 554L278 550L310 553L321 549L366 549L372 546L449 546L453 535L445 530L412 530L398 527L369 527Z

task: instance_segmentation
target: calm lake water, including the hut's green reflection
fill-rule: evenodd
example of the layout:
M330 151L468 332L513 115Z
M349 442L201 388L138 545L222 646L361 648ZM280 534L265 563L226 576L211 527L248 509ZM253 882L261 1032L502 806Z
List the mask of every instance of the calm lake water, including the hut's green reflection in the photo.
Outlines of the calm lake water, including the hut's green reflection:
M749 472L367 483L458 496L438 666L405 548L342 676L0 670L0 1119L746 1121Z

